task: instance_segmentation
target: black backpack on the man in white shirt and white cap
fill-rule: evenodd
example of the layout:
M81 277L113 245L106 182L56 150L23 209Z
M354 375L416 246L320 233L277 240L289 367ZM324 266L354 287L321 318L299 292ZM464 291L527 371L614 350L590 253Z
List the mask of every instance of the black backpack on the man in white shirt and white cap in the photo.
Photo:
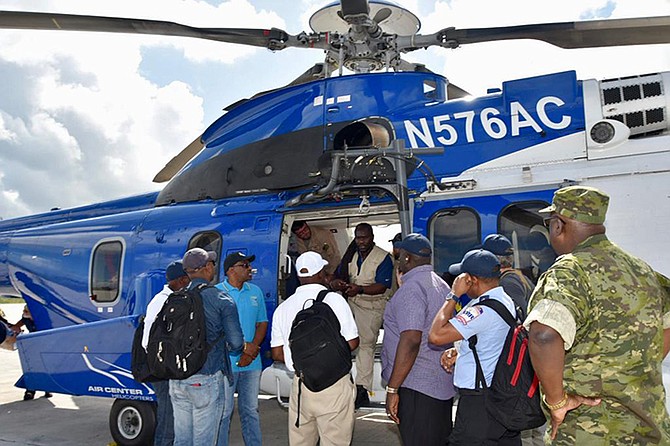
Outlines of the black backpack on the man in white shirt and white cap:
M349 343L340 334L340 321L323 302L320 291L309 308L296 314L288 337L293 367L307 388L320 392L351 371Z

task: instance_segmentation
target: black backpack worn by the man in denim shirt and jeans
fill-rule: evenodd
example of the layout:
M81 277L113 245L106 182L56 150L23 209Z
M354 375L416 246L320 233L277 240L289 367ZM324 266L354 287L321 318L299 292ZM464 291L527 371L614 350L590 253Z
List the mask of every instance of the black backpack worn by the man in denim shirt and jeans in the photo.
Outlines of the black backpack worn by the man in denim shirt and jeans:
M173 292L156 316L149 332L147 363L157 379L188 378L207 361L210 346L200 295L207 286Z

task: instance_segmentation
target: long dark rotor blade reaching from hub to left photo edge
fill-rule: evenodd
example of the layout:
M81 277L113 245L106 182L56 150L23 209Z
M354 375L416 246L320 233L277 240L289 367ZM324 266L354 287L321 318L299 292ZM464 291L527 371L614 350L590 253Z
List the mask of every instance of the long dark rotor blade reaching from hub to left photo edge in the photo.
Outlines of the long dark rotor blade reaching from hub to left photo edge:
M218 42L259 46L280 50L303 46L296 36L281 29L195 28L174 22L74 14L0 11L0 29L94 31L128 34L194 37Z

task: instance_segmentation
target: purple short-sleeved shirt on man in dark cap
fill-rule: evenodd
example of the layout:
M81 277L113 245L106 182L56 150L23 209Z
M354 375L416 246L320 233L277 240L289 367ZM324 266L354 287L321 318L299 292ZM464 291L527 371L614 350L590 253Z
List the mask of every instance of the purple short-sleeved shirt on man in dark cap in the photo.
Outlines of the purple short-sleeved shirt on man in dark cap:
M419 354L402 387L442 401L454 397L453 375L440 365L444 347L428 344L433 318L442 308L448 293L449 285L433 272L432 265L418 266L402 276L402 286L386 304L384 311L382 378L385 382L393 371L400 333L418 330L422 332Z

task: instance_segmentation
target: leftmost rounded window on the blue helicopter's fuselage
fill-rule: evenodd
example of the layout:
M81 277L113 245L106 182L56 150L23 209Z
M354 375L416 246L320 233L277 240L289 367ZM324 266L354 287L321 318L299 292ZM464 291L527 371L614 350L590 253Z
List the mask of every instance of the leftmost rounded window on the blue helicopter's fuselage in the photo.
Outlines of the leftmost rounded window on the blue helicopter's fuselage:
M93 252L91 264L91 298L98 303L114 302L119 297L123 244L108 241Z

